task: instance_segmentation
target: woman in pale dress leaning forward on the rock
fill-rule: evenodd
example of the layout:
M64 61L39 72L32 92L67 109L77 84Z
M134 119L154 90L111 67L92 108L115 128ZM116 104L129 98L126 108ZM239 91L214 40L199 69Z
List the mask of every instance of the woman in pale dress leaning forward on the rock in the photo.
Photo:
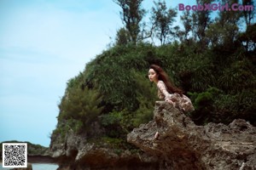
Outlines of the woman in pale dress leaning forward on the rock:
M167 74L158 65L150 65L148 71L150 82L154 82L158 88L158 97L165 99L168 103L174 105L180 111L194 111L191 100L183 94L183 91L175 87L169 80ZM159 133L155 133L155 139L159 138Z

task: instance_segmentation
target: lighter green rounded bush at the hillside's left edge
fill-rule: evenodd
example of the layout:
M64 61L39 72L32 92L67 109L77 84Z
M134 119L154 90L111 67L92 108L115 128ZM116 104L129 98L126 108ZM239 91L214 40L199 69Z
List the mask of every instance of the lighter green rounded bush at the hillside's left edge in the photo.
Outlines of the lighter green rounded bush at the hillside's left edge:
M72 82L75 82L72 81ZM73 133L83 133L84 130L90 131L90 125L97 120L102 113L102 96L97 90L89 88L79 88L69 82L65 96L59 105L60 114L58 116L58 126L54 134L60 133L61 139L71 130Z

